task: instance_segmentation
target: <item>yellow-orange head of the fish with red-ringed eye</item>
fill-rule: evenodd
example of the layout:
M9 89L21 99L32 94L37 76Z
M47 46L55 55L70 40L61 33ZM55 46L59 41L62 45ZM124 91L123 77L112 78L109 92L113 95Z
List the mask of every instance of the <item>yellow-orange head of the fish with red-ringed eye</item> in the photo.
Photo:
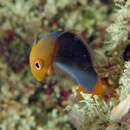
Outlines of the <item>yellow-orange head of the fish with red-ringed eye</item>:
M55 56L55 39L47 37L34 44L30 53L30 66L33 76L43 81L50 73Z

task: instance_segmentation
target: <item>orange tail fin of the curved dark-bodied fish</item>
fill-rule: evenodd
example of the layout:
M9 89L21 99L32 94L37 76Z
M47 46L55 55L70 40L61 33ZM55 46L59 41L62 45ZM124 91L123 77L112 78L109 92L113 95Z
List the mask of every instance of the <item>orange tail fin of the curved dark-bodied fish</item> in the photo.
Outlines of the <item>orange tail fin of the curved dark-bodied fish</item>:
M80 100L83 100L84 98L82 97L80 92L83 92L83 93L86 93L86 94L92 94L92 96L94 96L94 95L102 95L104 93L104 85L102 83L102 80L100 78L98 78L97 85L95 86L95 89L94 89L93 92L88 92L82 86L79 86L79 89L78 89L78 92L77 92L77 96L78 96L78 98Z

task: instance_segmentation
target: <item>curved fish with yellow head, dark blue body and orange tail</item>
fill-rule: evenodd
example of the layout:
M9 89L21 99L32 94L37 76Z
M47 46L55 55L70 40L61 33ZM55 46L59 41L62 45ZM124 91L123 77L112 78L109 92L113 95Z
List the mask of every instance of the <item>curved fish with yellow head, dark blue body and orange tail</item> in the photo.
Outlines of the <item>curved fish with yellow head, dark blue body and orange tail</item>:
M55 31L36 42L30 52L30 67L38 81L52 72L53 64L79 84L80 92L101 95L104 86L96 73L88 44L72 31Z

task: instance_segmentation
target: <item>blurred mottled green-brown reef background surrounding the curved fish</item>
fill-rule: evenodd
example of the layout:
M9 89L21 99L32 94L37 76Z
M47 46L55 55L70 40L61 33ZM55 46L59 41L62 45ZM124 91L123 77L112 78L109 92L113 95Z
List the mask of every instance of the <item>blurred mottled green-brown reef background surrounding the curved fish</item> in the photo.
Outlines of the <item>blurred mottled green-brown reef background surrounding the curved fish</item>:
M74 30L93 50L107 86L102 100L84 95L54 72L43 85L32 76L34 34ZM111 110L130 94L130 0L0 0L0 129L128 130L130 113Z

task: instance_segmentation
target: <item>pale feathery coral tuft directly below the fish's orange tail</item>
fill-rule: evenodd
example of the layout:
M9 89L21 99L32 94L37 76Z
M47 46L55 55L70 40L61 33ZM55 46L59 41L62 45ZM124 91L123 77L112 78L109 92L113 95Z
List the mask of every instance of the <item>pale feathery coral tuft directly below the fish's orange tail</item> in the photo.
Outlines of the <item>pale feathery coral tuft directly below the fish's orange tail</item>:
M91 98L91 94L87 95L82 92L81 94L84 100L69 108L72 120L77 119L77 128L79 130L106 128L109 125L111 108L116 100L111 99L109 102L105 102L98 96Z

